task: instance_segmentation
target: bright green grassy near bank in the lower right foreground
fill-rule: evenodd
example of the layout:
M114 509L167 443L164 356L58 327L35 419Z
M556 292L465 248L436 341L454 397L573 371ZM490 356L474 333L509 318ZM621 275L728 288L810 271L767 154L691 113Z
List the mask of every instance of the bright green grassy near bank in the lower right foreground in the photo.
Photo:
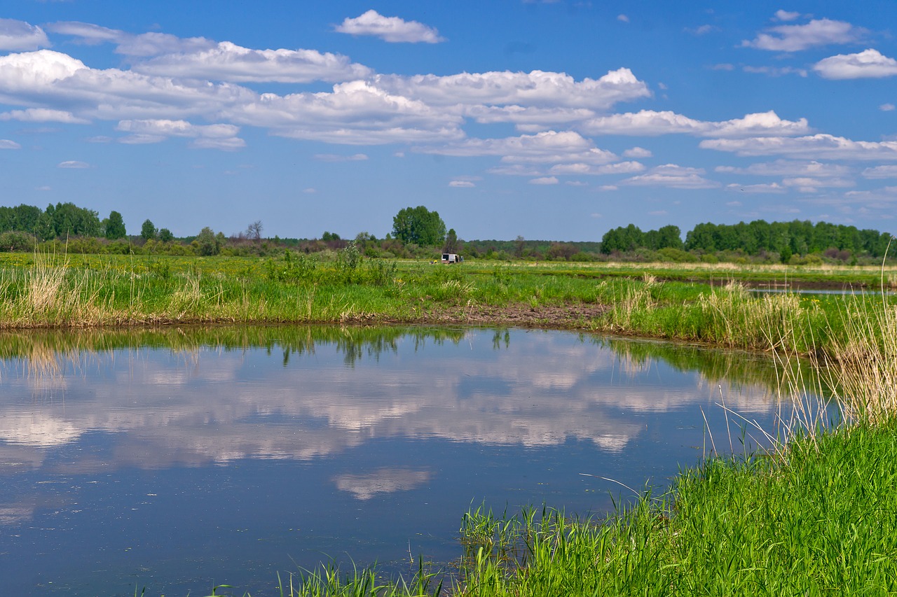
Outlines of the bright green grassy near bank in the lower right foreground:
M711 458L668 493L607 520L527 510L465 515L457 579L373 570L292 575L283 594L885 594L897 590L897 425L801 437L786 450ZM283 580L283 579L282 579ZM379 587L375 589L374 587Z

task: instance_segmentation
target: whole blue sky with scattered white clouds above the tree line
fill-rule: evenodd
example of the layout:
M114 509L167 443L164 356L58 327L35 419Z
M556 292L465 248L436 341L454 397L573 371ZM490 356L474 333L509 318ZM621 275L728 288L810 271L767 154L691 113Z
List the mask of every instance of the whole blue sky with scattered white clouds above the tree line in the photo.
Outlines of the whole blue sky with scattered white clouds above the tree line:
M847 2L4 3L0 203L128 232L892 230L897 10Z

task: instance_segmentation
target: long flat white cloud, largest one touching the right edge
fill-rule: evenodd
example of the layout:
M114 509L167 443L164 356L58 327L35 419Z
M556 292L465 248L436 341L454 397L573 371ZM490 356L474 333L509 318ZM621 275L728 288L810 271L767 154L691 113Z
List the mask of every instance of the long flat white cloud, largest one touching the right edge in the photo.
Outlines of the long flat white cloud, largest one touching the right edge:
M805 137L705 139L703 149L733 151L743 156L788 155L792 158L830 160L897 160L897 142L851 141L831 134Z

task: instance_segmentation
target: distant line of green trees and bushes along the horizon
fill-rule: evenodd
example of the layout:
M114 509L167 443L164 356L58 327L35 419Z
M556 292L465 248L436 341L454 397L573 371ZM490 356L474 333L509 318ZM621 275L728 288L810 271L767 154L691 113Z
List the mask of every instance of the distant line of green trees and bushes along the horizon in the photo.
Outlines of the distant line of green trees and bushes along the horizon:
M414 209L439 220L435 212L427 213L423 207ZM414 211L412 208L408 210ZM441 220L438 223L441 224ZM630 224L608 230L600 242L527 240L522 237L461 240L455 230L450 229L448 235L444 235L441 247L420 247L389 234L378 239L360 232L353 239L346 239L325 231L321 238L264 238L262 230L262 222L256 221L231 237L204 228L196 236L175 238L169 229L157 229L152 221L146 220L139 236L127 235L122 216L115 211L100 220L98 212L74 203L50 204L46 210L24 204L0 206L0 251L32 250L40 243L59 246L65 242L65 250L73 253L267 255L283 252L284 248L303 253L338 250L353 242L363 255L385 258L430 257L444 250L494 260L867 264L882 259L892 238L887 232L873 229L798 220L755 220L737 224L708 222L696 225L684 239L677 226L643 231Z

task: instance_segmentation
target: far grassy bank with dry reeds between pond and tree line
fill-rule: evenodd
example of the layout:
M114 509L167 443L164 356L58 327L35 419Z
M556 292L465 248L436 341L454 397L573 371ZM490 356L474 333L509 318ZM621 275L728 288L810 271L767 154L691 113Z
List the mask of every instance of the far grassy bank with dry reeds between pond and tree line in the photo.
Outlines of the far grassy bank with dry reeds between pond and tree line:
M834 354L845 337L849 317L842 297L755 295L746 290L745 280L755 275L756 266L739 271L727 265L725 278L721 270L705 270L713 280L727 280L725 286L661 281L669 275L668 264L646 267L443 266L348 259L318 263L294 254L276 259L139 261L123 255L4 255L0 329L213 323L507 325L745 350L769 350L779 342L778 350L801 354ZM694 271L693 265L683 270L688 275ZM769 273L782 272L773 268ZM860 283L869 273L845 268L837 275L854 276ZM884 283L886 274L880 275ZM862 311L876 300L851 297L850 308Z

